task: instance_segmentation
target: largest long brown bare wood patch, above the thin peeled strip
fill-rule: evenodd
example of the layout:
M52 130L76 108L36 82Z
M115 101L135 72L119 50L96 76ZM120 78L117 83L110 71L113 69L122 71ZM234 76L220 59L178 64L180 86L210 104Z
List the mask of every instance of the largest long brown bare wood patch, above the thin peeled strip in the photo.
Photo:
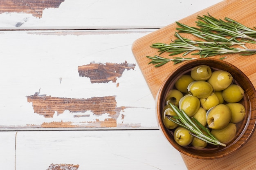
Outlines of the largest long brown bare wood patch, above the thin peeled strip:
M85 113L90 110L95 115L117 114L115 96L73 99L38 95L36 92L34 95L27 96L27 102L32 102L34 113L44 117L53 117L55 112L61 114L65 110L69 110L71 113Z

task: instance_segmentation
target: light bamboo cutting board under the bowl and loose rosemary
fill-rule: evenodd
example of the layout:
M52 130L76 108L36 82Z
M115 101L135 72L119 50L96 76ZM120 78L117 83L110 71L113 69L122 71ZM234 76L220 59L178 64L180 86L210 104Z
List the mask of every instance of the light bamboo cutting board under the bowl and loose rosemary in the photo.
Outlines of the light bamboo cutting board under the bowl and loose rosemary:
M224 19L225 17L234 19L245 26L252 28L256 26L256 0L225 0L212 7L199 11L187 18L184 18L178 22L189 26L196 26L197 15L207 15L209 13L215 18ZM150 33L138 40L132 45L132 52L137 60L137 63L148 83L153 97L156 97L157 92L162 85L164 79L181 64L173 65L173 62L169 62L159 68L155 68L152 64L148 64L150 60L146 58L148 56L158 55L157 49L150 47L151 44L156 42L170 43L171 40L175 40L174 33L176 31L176 23L170 24L162 29L159 29L153 33ZM191 38L190 35L182 35L186 38ZM256 48L256 45L247 46L248 48ZM162 57L170 57L168 54L161 54ZM227 58L225 61L238 67L243 71L256 87L256 55L251 56L239 56L238 54L225 55ZM186 57L196 57L195 55ZM215 56L214 58L220 58ZM233 155L216 160L200 160L182 155L184 162L189 170L198 169L211 169L211 170L255 170L256 169L256 134L254 134L248 143Z

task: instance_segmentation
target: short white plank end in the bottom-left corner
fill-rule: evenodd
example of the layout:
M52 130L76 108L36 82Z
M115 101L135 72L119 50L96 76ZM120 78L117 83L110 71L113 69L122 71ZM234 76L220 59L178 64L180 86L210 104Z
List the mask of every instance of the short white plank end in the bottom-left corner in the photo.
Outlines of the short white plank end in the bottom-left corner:
M0 132L0 167L2 170L15 169L16 132Z

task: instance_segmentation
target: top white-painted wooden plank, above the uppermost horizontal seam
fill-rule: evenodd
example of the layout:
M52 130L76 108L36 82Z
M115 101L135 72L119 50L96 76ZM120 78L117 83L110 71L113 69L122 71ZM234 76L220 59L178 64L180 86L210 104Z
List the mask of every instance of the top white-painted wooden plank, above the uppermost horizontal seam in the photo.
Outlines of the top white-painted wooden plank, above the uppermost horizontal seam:
M220 1L0 0L0 29L162 28Z

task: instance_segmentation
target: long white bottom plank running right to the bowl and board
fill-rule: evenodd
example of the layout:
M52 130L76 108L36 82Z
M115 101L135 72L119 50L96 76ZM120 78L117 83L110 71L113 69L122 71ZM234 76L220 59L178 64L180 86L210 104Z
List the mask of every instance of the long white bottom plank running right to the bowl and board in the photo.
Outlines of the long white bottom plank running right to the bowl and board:
M51 164L78 170L186 169L159 130L18 132L17 170L46 170Z

